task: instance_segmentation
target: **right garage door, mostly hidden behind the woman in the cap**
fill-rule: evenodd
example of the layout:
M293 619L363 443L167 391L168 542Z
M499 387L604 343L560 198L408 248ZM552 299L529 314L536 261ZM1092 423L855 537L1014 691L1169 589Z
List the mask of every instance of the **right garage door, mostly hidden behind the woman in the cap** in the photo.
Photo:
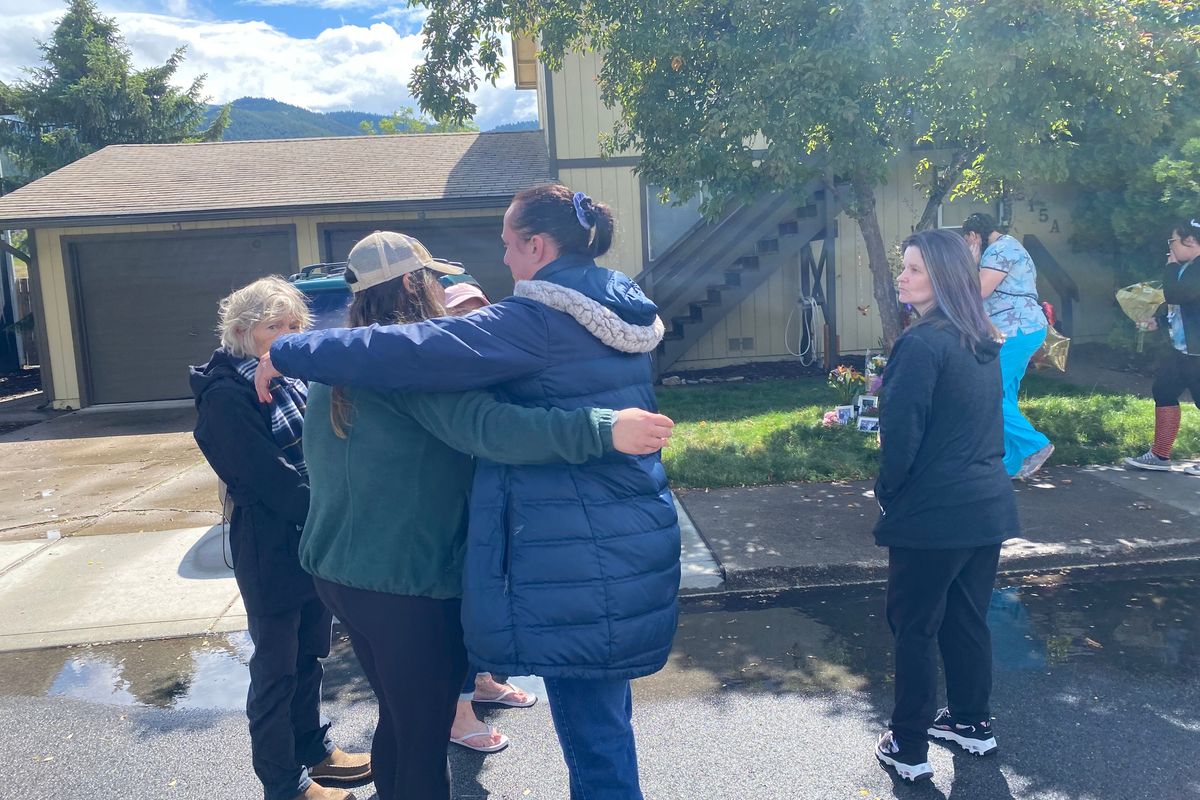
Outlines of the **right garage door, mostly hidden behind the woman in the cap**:
M512 273L504 266L500 217L486 219L436 219L370 222L325 230L325 258L344 261L354 243L374 230L397 230L421 240L434 258L461 261L484 287L484 294L502 300L512 294Z

